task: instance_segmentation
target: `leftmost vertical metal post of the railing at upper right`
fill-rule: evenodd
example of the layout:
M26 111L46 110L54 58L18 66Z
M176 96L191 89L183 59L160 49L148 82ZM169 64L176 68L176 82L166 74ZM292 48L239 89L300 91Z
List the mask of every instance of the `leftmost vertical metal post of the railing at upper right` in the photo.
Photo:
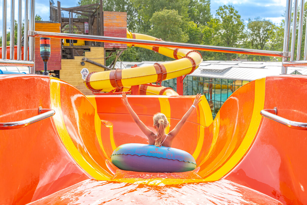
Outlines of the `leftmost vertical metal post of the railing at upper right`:
M291 7L292 0L287 0L283 52L289 52ZM288 61L288 57L282 57L282 62L285 61ZM287 67L282 66L282 74L287 74Z

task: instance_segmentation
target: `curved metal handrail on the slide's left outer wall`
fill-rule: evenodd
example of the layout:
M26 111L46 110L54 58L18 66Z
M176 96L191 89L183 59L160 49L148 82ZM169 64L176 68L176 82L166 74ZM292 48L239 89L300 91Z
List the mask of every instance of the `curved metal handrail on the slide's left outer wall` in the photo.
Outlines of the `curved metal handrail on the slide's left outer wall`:
M41 113L44 112L44 113ZM56 111L52 109L42 109L39 107L38 109L39 115L30 117L25 120L15 121L15 122L0 122L0 130L7 130L7 129L17 129L17 128L23 128L30 124L33 124L35 122L44 120L46 118L49 118L53 116Z

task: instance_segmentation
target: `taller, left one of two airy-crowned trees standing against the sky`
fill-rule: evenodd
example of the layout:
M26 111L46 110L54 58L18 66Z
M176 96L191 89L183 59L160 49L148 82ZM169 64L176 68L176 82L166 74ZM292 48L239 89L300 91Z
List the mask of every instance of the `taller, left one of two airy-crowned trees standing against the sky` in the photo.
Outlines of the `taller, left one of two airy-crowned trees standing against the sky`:
M217 30L218 45L239 47L244 36L244 23L233 6L220 6L216 10L216 21L211 21L211 25L214 30ZM227 53L226 56L227 60L230 60L235 55Z

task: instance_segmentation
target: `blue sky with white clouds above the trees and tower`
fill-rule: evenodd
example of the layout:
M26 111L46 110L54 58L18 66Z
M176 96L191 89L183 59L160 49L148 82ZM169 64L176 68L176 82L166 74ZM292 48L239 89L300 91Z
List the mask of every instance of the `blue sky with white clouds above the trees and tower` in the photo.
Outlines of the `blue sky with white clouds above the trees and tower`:
M56 6L56 0L53 0ZM15 0L15 19L17 19L17 0ZM77 5L78 0L61 0L61 7L73 7ZM7 27L10 27L10 1L7 0ZM256 17L268 19L279 24L284 17L282 15L286 9L285 0L211 0L211 13L216 14L219 6L232 5L238 10L241 18L247 21L248 18ZM0 0L0 11L2 12L3 1ZM23 2L24 8L24 2ZM24 16L24 9L22 9ZM49 21L49 0L36 0L35 13L39 14L43 21ZM2 14L0 15L0 35L2 35Z

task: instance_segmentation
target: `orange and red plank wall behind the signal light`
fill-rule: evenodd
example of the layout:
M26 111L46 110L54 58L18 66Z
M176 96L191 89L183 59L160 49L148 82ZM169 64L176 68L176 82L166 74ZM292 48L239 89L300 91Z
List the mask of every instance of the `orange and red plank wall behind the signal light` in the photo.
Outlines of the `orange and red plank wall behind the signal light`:
M35 22L36 31L61 32L60 23ZM44 70L41 60L39 38L35 38L35 70ZM48 70L60 70L62 58L62 39L51 38L51 55L48 61Z

